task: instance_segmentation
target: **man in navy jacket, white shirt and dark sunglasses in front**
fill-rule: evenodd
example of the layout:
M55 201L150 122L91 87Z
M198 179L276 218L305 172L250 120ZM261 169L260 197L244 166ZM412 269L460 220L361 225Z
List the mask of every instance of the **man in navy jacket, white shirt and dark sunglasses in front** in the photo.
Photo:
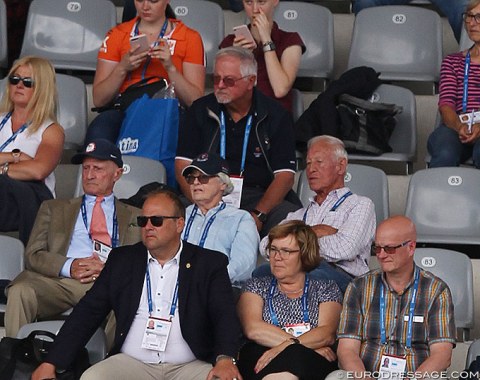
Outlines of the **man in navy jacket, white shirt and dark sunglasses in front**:
M142 243L109 255L32 379L55 378L56 369L68 368L111 310L113 348L82 379L241 379L226 256L180 240L185 208L169 191L147 197L138 224Z

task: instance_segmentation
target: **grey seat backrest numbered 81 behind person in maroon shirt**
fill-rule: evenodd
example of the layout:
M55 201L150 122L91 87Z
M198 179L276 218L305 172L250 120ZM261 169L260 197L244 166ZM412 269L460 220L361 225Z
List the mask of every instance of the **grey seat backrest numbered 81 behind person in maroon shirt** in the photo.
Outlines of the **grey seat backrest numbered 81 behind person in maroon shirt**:
M333 15L329 9L301 1L281 1L274 20L280 29L297 32L307 47L298 77L331 78L333 75Z

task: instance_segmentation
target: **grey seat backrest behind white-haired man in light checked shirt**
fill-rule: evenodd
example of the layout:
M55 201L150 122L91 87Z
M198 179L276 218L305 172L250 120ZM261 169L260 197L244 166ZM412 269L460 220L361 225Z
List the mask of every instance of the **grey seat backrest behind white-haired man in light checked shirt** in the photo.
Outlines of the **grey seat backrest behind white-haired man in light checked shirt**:
M349 187L355 194L363 195L372 200L375 205L377 224L388 218L388 181L384 171L366 165L348 164L345 186ZM315 195L310 190L305 170L301 171L298 179L297 195L305 207L308 206L308 198Z

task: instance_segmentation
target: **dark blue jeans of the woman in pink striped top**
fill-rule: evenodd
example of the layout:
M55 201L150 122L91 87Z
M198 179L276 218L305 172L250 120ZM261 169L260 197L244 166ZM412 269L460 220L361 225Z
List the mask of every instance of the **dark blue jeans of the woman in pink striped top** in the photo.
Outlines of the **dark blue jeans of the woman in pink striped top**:
M475 144L463 144L458 133L440 124L434 129L427 143L428 153L432 156L429 167L459 166L473 158L473 164L480 168L480 141Z

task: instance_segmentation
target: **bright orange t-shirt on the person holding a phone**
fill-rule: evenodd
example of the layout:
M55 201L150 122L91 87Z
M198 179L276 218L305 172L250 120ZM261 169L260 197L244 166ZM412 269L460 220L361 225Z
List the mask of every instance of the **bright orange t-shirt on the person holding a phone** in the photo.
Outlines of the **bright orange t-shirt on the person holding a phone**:
M135 35L135 24L137 21L138 17L110 29L100 47L98 59L120 62L122 56L130 50L130 37ZM187 27L180 20L169 19L169 21L175 27L170 35L165 35L164 38L168 40L172 62L177 70L183 73L183 62L205 66L205 53L200 34ZM131 71L120 87L120 92L125 91L133 83L140 81L144 68L145 65L142 65L138 69ZM147 66L145 78L151 76L160 76L169 80L167 71L159 59L150 60Z

